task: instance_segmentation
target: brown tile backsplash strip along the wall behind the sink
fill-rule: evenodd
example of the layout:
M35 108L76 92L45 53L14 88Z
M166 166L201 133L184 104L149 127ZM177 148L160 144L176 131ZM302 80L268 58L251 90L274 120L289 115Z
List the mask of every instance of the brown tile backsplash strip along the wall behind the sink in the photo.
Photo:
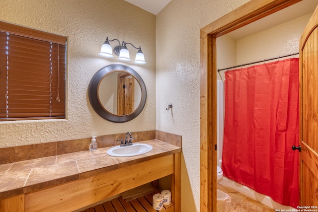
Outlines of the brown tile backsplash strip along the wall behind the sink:
M98 144L98 148L119 145L120 143L117 140L125 139L125 136L126 133L97 136L96 142ZM181 147L182 145L181 136L156 130L132 132L132 136L135 138L133 142L157 139L178 147ZM0 164L85 151L89 149L90 140L91 138L85 138L69 141L2 147L0 148Z

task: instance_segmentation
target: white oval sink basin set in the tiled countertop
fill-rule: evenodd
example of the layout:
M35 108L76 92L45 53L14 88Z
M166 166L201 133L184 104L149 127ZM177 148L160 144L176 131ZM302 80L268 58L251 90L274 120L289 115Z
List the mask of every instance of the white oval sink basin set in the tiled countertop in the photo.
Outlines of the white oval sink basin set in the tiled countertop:
M114 146L108 149L107 154L113 157L130 157L145 154L152 149L153 146L146 143L133 143L129 146Z

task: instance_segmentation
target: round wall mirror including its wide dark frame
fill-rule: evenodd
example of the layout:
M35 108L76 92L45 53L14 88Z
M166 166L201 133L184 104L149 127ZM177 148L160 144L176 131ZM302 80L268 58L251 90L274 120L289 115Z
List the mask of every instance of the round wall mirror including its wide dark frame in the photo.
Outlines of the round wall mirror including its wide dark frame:
M146 104L147 91L141 76L125 65L98 70L89 82L88 97L95 112L111 122L136 118Z

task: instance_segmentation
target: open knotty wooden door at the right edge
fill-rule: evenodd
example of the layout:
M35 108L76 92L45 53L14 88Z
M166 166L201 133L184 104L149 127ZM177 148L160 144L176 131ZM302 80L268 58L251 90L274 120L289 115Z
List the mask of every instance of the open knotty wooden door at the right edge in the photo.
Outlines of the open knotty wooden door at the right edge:
M318 207L318 7L301 36L299 64L299 204Z

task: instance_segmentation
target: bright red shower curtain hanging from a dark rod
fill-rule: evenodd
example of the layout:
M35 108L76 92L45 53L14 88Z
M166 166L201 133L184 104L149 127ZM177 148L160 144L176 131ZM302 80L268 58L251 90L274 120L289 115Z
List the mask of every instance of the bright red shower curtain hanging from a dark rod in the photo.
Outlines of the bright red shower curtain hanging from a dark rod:
M224 176L298 206L298 58L225 72Z

